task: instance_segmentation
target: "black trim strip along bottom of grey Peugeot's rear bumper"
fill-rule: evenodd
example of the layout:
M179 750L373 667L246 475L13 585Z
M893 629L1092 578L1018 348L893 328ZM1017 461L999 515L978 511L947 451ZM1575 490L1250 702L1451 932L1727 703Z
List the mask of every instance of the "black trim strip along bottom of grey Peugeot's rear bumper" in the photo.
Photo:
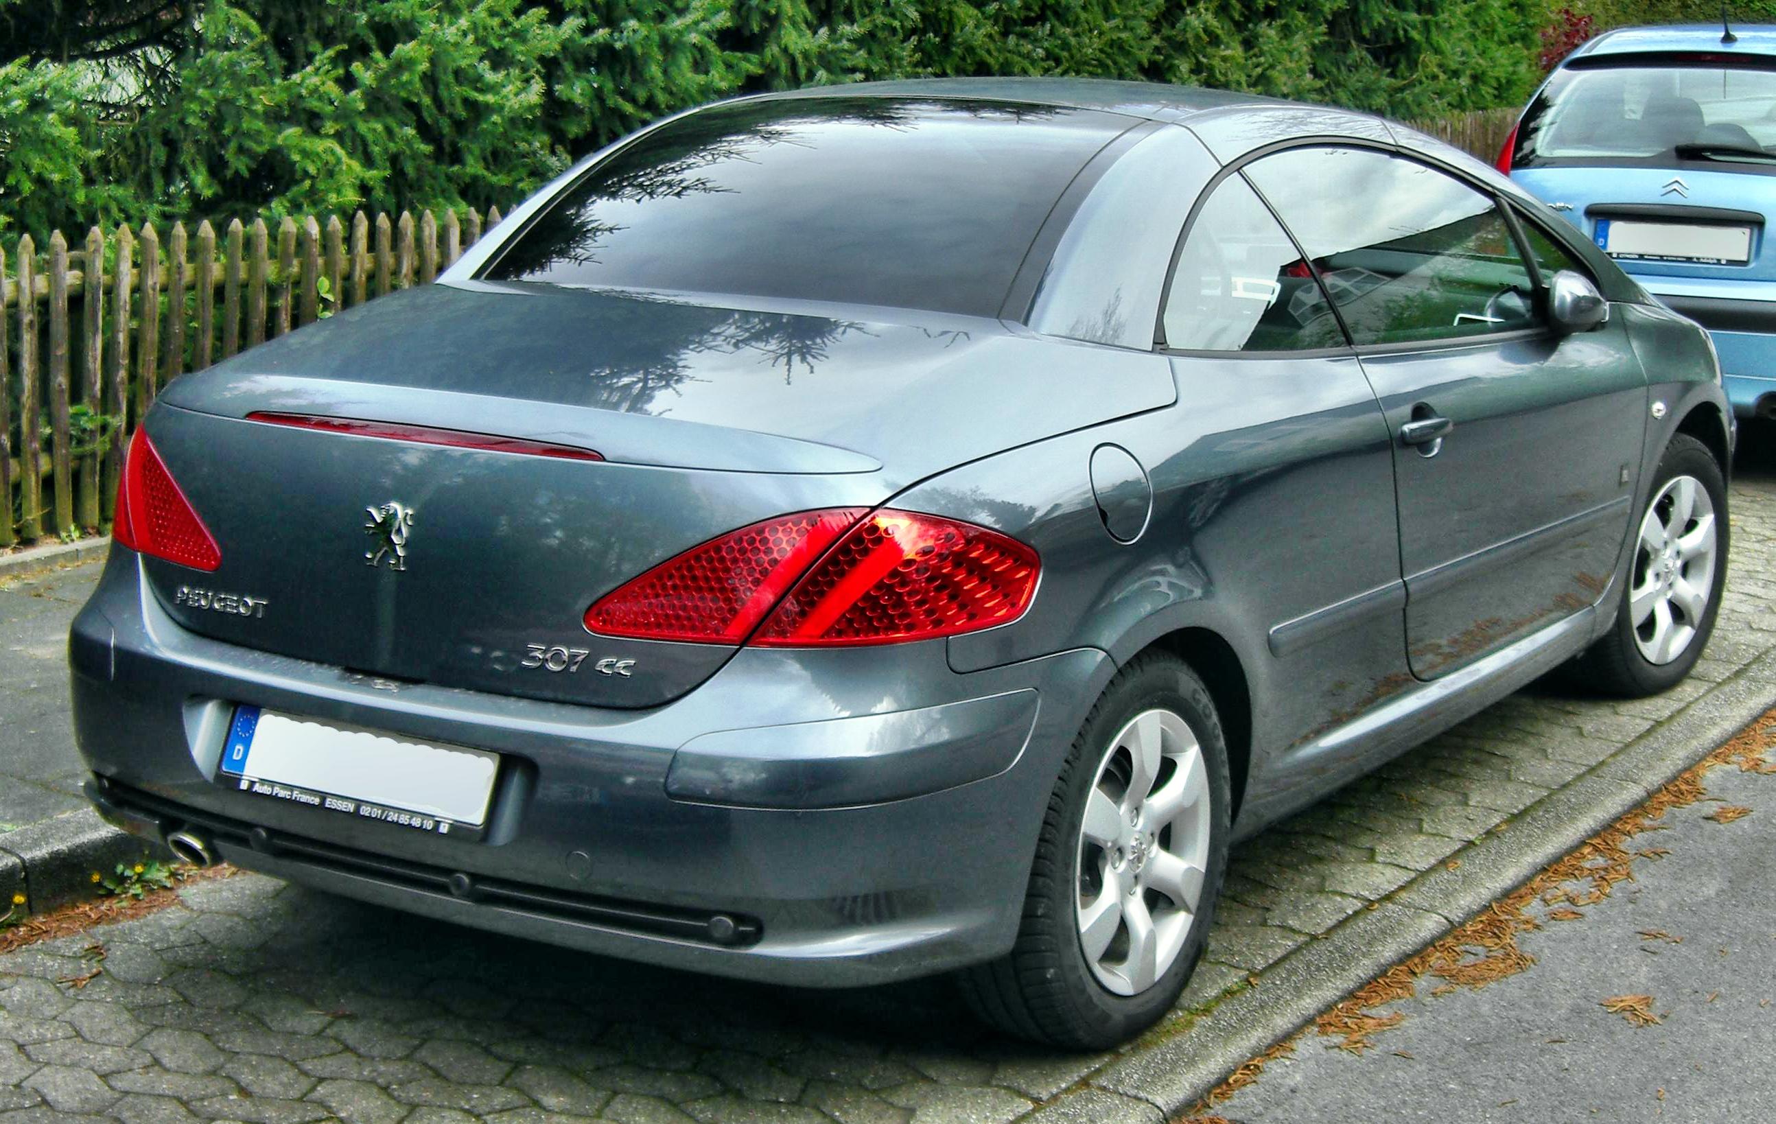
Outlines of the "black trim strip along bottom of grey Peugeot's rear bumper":
M623 898L561 893L542 886L432 867L428 863L394 859L286 831L270 831L226 815L190 808L107 778L87 781L85 792L105 819L139 835L165 838L174 831L201 831L213 840L305 867L371 877L408 890L448 893L517 913L600 925L620 932L664 936L721 948L757 945L764 936L764 925L757 918L735 913L673 909Z

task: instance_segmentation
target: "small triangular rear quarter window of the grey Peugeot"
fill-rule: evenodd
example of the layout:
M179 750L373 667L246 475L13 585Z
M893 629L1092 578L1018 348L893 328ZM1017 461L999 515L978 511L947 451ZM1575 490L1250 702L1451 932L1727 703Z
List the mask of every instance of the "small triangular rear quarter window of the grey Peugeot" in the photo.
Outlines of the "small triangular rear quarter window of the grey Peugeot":
M1165 346L1186 352L1344 346L1300 250L1240 176L1224 179L1190 224L1163 327Z

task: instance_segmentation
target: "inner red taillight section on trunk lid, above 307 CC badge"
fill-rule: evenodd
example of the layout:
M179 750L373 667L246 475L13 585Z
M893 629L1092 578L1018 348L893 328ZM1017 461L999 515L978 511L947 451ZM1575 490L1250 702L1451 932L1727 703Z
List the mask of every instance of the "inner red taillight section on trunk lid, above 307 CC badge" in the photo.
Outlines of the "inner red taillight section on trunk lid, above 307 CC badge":
M730 531L625 582L586 611L600 636L739 645L865 508L803 511Z

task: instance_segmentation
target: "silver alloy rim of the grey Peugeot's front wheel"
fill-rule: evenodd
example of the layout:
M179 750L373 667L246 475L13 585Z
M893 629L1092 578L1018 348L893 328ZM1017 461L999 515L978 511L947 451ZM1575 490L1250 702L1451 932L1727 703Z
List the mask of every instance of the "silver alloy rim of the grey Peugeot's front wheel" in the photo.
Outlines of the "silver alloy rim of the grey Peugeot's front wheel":
M1673 476L1641 518L1629 620L1650 664L1669 664L1696 639L1714 595L1714 501L1694 476Z

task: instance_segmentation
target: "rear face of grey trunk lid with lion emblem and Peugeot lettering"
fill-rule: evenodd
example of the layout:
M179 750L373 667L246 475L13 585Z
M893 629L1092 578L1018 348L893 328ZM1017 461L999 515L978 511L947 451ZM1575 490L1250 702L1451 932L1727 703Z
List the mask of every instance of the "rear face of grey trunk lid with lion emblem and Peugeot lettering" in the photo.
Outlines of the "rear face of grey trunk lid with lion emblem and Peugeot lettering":
M181 408L147 431L222 554L211 574L146 559L186 629L373 677L611 707L666 701L728 648L593 636L599 597L721 531L872 506L884 488L874 472L559 460Z

